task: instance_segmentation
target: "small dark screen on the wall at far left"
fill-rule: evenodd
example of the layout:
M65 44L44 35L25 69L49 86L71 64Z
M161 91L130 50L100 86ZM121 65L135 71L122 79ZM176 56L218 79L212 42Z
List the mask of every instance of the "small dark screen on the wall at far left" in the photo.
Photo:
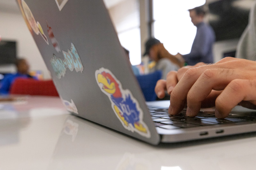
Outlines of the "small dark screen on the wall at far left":
M0 41L0 65L13 64L16 60L16 41Z

